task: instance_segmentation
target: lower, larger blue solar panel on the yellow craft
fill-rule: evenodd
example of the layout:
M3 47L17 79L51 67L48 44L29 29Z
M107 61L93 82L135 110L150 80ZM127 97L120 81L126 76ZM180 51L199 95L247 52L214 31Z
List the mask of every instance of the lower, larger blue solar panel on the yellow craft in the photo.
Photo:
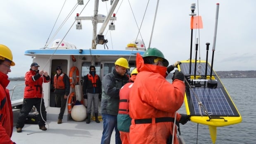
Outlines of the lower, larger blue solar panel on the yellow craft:
M199 100L195 97L199 98ZM198 102L202 102L210 116L239 116L230 97L223 87L193 87L192 90L187 87L186 94L192 116L201 116L206 114L204 109L199 106Z

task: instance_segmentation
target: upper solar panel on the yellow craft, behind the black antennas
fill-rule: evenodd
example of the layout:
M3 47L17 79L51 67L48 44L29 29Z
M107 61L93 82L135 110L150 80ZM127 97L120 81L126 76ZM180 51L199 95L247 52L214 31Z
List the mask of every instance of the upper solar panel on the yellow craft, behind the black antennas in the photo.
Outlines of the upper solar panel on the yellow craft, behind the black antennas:
M204 63L197 63L197 71L196 71L196 75L197 76L204 76L205 75L205 62ZM191 63L191 75L194 75L194 66L195 63ZM180 65L180 69L184 74L188 74L190 73L190 63L182 63ZM211 66L209 64L207 64L207 75L210 75L211 73Z

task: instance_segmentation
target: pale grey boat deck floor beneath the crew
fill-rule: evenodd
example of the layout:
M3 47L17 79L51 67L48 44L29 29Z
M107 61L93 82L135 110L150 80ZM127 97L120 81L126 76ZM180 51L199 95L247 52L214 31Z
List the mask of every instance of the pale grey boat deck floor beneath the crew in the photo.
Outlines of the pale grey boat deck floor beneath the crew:
M57 124L57 121L47 121L46 131L39 129L38 124L25 124L21 133L13 127L12 141L17 144L100 144L103 121L90 124L85 121L69 120ZM115 131L111 136L110 144L115 144Z

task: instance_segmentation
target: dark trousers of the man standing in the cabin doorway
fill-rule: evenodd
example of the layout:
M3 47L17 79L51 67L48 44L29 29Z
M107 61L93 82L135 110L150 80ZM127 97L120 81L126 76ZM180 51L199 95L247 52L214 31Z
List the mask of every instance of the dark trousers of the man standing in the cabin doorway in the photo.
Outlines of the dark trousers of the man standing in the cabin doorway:
M62 118L63 118L65 108L66 108L66 100L67 99L64 99L64 94L55 94L56 107L60 108L58 119L62 120Z

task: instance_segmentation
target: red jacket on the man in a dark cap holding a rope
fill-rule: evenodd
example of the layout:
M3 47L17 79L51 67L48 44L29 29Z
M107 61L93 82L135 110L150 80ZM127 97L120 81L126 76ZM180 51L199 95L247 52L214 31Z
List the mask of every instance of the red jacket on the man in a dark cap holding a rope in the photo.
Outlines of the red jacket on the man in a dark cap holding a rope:
M42 84L50 82L50 76L40 76L36 71L26 72L25 74L25 89L24 89L24 99L31 98L42 98L43 87Z

